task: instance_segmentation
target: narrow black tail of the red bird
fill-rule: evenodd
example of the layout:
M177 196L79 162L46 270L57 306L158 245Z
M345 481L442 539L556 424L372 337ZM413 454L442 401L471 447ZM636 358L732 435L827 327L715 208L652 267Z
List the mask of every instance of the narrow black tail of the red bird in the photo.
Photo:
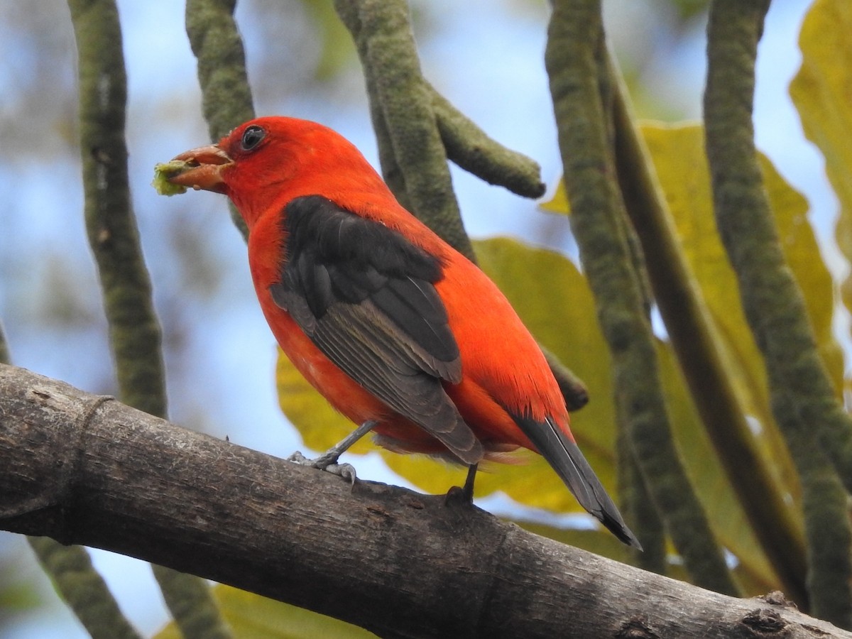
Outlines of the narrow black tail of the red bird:
M544 422L529 417L515 417L515 422L571 489L580 505L625 544L642 550L642 544L625 524L619 509L604 490L576 442L550 417Z

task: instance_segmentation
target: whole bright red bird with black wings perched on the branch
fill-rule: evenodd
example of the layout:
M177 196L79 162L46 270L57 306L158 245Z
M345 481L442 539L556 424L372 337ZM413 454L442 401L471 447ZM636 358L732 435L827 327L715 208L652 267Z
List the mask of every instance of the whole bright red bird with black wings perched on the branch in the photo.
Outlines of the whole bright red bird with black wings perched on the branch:
M359 436L372 429L395 452L463 463L469 491L482 459L539 452L584 509L640 547L574 442L556 380L509 302L343 136L257 118L175 160L187 164L170 182L236 205L273 334L308 382L362 425Z

